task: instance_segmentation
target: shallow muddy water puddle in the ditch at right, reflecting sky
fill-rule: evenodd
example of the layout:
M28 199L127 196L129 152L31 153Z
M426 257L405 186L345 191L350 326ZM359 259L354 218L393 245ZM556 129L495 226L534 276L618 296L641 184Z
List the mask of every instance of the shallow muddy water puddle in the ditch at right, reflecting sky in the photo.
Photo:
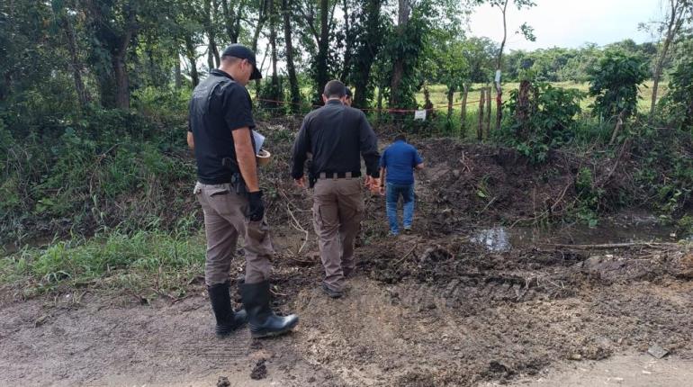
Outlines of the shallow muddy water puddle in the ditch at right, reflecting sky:
M629 213L602 220L595 228L582 224L557 229L492 227L476 231L470 239L489 251L505 252L514 247L551 244L676 242L693 240L693 236L678 235L675 228L658 224L653 215Z

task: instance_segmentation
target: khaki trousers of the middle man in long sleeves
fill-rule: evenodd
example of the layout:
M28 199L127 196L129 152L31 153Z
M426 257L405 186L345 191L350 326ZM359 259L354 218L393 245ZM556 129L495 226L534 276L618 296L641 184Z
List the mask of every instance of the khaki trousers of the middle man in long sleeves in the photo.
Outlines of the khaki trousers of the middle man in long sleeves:
M364 213L359 178L320 179L313 191L313 225L320 240L325 284L344 290L345 275L356 268L354 239Z

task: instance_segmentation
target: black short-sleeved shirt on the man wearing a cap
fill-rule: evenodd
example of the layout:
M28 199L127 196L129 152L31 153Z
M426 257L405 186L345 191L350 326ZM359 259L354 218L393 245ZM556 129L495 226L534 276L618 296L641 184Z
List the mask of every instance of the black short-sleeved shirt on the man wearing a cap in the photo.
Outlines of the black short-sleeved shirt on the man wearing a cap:
M237 164L231 130L255 128L252 107L246 88L221 70L211 70L210 76L195 87L189 104L188 130L193 132L197 178L201 183L231 182L232 170L223 166L222 160L230 157Z

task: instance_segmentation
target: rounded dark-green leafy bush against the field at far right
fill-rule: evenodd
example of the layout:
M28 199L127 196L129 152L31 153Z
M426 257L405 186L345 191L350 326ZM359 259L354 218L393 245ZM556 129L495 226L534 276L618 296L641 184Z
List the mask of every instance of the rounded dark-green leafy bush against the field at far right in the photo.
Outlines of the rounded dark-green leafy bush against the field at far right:
M650 76L645 58L621 49L606 50L588 74L590 96L596 97L593 112L602 120L636 112L639 86Z

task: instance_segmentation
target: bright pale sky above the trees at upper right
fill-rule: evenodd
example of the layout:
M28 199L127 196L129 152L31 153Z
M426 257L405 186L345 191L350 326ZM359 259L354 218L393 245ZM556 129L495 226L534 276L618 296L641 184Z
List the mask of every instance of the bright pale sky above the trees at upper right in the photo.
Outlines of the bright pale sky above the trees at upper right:
M586 42L603 46L618 40L652 41L638 23L662 19L662 0L535 0L536 6L508 6L508 42L512 49L577 48ZM516 34L519 26L534 27L536 41ZM502 16L490 5L478 7L470 17L470 35L503 39Z

